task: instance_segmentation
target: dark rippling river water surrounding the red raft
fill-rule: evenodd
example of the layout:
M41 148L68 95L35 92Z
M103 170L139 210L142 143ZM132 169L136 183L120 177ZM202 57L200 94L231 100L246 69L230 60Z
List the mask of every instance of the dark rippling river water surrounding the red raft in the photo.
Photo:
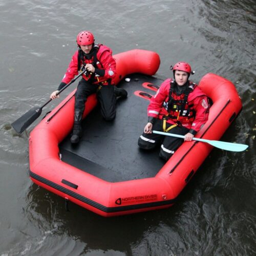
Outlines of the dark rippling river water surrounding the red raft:
M255 0L0 0L0 255L255 255L255 13ZM187 61L195 82L208 72L232 81L243 110L222 140L248 150L215 148L171 208L114 218L74 204L67 212L29 178L28 135L40 118L20 136L10 123L48 100L81 30L114 54L156 51L161 77Z

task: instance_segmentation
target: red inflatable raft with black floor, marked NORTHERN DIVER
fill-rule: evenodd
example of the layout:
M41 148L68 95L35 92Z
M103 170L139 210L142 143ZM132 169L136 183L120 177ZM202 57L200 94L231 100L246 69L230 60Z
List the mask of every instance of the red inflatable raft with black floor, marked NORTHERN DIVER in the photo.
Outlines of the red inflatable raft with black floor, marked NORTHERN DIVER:
M140 150L137 142L147 122L148 99L163 81L153 76L160 58L137 49L114 58L115 84L128 92L117 102L114 121L103 120L96 96L91 95L83 115L83 136L72 145L74 90L29 138L31 180L104 217L172 206L212 150L207 143L184 142L167 162L159 158L159 149ZM196 137L219 140L240 113L241 99L234 85L216 74L203 76L199 87L212 105L209 120Z

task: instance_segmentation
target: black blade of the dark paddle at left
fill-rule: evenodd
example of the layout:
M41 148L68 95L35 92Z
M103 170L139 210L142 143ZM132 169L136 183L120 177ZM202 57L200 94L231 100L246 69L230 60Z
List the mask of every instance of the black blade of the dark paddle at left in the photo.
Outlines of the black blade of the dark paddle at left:
M41 115L41 113L42 109L39 108L39 106L34 106L34 108L32 108L23 116L11 123L11 125L18 134L21 134L27 129L27 127L31 123L33 123Z

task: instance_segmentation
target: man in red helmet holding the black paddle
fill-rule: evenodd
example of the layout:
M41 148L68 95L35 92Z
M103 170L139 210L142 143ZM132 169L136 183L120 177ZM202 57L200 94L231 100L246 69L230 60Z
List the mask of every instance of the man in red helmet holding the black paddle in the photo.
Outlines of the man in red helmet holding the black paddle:
M127 97L124 89L114 86L116 75L116 61L112 57L112 50L104 45L94 44L94 36L90 31L81 31L76 38L78 50L74 53L68 70L64 75L58 90L50 98L59 97L58 92L68 84L80 69L86 69L82 75L75 93L74 126L71 143L79 142L82 135L82 115L84 103L89 95L97 93L101 114L107 121L116 117L116 97Z

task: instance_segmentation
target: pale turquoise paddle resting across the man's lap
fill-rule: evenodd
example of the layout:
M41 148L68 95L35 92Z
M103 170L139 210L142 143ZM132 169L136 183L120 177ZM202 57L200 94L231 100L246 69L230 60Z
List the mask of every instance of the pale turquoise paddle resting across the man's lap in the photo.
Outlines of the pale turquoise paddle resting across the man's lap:
M185 137L183 135L178 135L173 133L164 133L164 132L158 132L158 131L152 131L152 133L161 134L165 136L172 136L177 138L183 138L183 139ZM221 148L221 150L234 151L234 152L245 151L246 148L248 147L248 145L245 145L245 144L231 143L231 142L225 142L225 141L219 141L219 140L206 140L206 139L199 139L199 138L193 138L193 140L206 142L212 146Z

